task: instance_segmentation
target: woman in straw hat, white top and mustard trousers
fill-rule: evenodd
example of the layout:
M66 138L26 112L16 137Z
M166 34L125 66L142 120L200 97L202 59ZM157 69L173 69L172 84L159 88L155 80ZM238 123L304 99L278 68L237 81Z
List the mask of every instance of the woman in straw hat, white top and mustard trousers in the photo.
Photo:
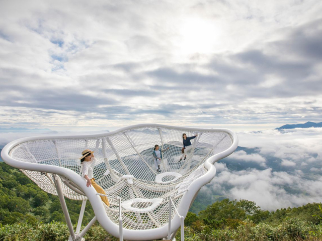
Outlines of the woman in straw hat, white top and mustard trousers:
M106 195L105 191L103 190L102 187L100 187L98 184L96 184L95 179L93 177L93 168L92 165L94 164L95 157L94 157L94 152L91 151L90 149L86 149L82 152L82 157L79 158L81 159L81 171L82 171L82 176L87 180L87 187L90 187L93 185L95 190L98 193ZM102 201L110 206L109 200L107 199L106 196L101 196Z

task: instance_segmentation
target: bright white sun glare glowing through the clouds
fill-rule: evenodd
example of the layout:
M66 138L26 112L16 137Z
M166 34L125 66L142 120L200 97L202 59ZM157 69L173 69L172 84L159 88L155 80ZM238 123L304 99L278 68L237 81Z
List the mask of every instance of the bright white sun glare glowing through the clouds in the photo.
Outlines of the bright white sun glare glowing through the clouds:
M191 18L180 27L179 49L183 54L209 53L218 45L221 29L214 21Z

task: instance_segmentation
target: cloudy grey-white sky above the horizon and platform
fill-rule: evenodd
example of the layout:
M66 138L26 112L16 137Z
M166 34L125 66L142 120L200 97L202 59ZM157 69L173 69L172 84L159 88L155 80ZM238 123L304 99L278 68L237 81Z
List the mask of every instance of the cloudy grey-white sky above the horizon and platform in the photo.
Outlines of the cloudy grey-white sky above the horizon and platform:
M0 127L321 122L322 2L0 1Z

